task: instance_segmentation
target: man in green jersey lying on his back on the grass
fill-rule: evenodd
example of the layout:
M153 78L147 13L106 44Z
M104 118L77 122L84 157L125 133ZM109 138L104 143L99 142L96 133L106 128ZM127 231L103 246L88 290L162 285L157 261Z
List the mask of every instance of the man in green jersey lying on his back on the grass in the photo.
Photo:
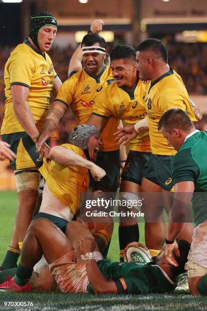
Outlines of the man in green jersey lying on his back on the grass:
M34 289L39 276L37 273L32 275L33 266L44 254L51 275L64 293L172 292L177 286L178 275L184 272L190 249L187 241L178 242L180 257L174 253L178 267L166 262L164 252L146 265L119 263L102 259L92 234L82 224L70 222L66 231L68 239L48 219L34 220L27 230L16 274L1 284L0 290L23 292ZM49 282L49 277L47 273L44 279Z

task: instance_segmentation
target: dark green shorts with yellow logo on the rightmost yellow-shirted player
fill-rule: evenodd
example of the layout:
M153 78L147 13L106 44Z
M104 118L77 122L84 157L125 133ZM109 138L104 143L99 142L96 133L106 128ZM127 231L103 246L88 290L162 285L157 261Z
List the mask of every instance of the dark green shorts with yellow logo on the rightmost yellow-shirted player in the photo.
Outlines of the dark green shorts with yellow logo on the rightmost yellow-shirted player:
M172 189L171 160L172 155L152 154L151 159L146 163L143 177L158 184L162 189Z

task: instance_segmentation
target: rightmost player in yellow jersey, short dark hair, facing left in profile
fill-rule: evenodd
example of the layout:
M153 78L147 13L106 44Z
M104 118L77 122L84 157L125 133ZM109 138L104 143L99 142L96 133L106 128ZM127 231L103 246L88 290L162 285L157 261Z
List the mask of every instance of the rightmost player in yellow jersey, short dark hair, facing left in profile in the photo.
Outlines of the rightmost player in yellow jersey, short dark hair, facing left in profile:
M167 49L158 39L147 39L137 48L137 66L142 80L151 80L143 98L147 111L152 158L144 168L142 191L166 192L172 189L170 162L176 151L167 144L157 125L162 114L169 108L181 108L192 121L196 121L188 92L181 77L167 64ZM139 128L139 123L135 126ZM120 143L137 136L134 127L121 129ZM139 131L139 130L138 130ZM123 137L125 133L128 136ZM145 196L145 239L148 248L161 250L166 227L162 218L163 203L155 196ZM148 200L149 198L149 200ZM186 224L178 239L192 241L193 225Z

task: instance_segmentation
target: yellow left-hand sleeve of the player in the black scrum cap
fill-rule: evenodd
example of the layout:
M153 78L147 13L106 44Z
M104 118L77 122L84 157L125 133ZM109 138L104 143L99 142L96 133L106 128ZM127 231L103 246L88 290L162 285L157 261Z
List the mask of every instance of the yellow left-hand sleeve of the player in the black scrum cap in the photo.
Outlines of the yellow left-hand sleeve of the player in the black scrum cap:
M33 59L26 53L15 53L12 55L9 64L10 85L21 84L27 87L31 86L33 75Z

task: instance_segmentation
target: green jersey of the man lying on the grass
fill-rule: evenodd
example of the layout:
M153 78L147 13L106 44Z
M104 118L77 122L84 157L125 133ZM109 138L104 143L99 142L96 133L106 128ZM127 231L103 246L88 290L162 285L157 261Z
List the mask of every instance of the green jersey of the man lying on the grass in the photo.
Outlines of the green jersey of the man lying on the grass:
M105 259L98 261L97 265L107 279L123 277L127 285L127 294L166 293L174 291L177 286L165 271L152 262L139 265L135 262L119 263ZM94 293L90 284L88 292Z

